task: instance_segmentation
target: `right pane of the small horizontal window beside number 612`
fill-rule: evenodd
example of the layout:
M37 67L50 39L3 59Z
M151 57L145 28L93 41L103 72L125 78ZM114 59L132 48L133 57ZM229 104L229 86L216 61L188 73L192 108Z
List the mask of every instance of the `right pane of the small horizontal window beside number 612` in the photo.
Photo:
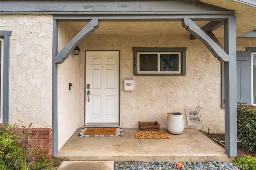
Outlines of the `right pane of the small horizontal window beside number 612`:
M160 71L179 71L179 55L161 54Z

